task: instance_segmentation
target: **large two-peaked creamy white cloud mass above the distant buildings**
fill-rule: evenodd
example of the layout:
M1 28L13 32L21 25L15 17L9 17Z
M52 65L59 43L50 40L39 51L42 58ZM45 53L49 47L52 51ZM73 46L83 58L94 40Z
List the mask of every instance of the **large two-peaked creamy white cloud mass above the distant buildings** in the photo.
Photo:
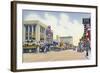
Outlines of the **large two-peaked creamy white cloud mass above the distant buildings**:
M84 32L84 27L78 20L70 21L70 17L64 13L60 14L60 19L52 14L45 13L45 18L47 24L51 25L53 29L54 37L56 37L56 35L72 36L73 44L78 44Z

